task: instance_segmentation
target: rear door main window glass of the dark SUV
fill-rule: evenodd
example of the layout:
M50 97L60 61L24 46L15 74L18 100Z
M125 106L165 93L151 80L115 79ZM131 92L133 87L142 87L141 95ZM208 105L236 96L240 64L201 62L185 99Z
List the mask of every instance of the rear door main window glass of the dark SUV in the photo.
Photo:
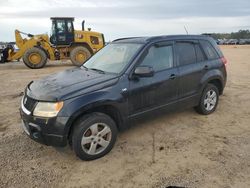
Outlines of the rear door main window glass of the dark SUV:
M179 65L196 63L195 45L191 42L177 42L176 53Z

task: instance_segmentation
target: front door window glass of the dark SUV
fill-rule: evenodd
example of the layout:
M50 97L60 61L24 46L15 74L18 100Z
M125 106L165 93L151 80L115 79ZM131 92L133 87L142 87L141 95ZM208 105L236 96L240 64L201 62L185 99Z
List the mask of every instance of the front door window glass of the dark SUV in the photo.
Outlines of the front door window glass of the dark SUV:
M150 47L141 65L150 66L155 72L172 68L174 65L172 45Z

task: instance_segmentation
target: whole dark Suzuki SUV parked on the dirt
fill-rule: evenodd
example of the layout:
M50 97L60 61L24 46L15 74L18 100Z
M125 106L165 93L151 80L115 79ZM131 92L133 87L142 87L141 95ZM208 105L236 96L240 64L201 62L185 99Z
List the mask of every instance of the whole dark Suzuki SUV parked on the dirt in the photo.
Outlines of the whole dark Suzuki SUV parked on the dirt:
M176 35L113 41L84 66L32 81L21 102L23 129L83 160L107 154L117 131L163 109L215 111L226 59L212 38Z

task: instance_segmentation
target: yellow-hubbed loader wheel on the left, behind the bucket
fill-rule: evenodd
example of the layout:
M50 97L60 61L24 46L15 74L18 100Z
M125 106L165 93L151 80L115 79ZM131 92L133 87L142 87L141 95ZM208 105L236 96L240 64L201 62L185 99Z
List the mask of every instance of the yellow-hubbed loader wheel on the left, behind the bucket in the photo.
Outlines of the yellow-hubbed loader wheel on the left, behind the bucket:
M37 47L28 49L23 55L24 64L31 69L43 68L47 63L46 53Z

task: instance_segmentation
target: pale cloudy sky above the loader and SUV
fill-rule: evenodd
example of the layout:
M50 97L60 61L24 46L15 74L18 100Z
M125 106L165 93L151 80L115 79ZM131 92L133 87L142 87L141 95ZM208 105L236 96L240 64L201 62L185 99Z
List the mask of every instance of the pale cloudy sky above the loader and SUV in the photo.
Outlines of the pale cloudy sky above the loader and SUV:
M14 30L50 34L50 17L75 17L75 29L104 33L106 41L250 29L249 0L0 0L0 41Z

